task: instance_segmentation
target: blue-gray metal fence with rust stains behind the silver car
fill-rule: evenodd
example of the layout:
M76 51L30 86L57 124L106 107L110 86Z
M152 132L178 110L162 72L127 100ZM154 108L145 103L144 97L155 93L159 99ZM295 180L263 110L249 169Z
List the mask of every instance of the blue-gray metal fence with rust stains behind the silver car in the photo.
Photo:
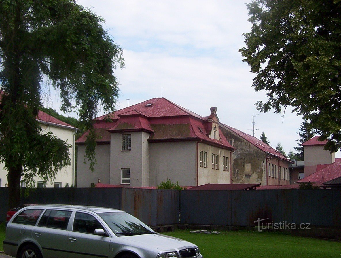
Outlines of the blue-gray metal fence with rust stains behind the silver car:
M8 210L8 188L0 187L0 221ZM127 211L150 226L192 224L255 226L309 223L341 228L341 191L283 189L176 191L133 188L38 188L22 203L78 204ZM179 222L180 214L180 222Z

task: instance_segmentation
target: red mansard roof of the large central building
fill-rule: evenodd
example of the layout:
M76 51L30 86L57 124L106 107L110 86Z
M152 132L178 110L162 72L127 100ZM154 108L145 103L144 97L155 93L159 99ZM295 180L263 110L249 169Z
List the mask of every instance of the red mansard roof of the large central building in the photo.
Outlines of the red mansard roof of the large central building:
M151 105L150 105L151 104ZM103 121L111 117L112 122ZM219 128L220 139L212 139L207 132L208 117L201 117L165 98L152 98L136 105L115 111L95 119L94 127L105 128L108 132L147 131L150 141L201 140L208 144L233 150ZM84 143L87 134L76 142ZM109 138L110 134L103 138Z

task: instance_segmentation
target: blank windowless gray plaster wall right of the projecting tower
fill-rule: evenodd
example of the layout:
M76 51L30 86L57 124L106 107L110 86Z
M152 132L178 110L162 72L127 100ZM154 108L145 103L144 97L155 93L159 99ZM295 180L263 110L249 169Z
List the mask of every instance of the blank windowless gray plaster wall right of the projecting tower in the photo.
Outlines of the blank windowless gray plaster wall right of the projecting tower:
M196 142L149 143L150 186L170 179L180 185L196 185Z

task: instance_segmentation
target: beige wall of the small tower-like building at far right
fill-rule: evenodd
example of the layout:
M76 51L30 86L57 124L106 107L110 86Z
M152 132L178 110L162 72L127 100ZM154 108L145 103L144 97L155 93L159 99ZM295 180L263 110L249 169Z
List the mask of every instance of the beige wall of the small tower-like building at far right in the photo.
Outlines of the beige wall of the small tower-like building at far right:
M324 146L304 146L304 174L305 177L316 172L318 164L331 164L335 162L335 153L326 151Z

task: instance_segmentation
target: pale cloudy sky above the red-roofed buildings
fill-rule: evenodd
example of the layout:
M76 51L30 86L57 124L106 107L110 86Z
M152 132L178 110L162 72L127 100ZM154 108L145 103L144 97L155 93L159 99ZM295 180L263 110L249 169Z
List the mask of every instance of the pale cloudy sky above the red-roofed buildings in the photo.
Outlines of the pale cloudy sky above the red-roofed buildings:
M253 89L255 74L238 51L242 34L251 31L244 2L250 1L77 1L104 18L103 27L123 48L116 109L127 107L127 99L131 106L163 96L201 116L217 107L220 122L250 135L257 115L255 137L264 132L272 147L280 142L286 153L295 152L302 117L290 108L284 117L260 113L254 105L266 95ZM58 97L49 105L61 112Z

